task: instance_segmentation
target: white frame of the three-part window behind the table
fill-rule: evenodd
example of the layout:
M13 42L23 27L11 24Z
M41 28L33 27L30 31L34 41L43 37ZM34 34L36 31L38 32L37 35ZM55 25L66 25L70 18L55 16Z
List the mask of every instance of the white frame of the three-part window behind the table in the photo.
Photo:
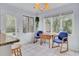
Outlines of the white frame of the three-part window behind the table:
M51 20L51 33L53 33L53 31L54 31L54 29L53 29L53 19L54 19L54 17L60 17L60 28L59 28L59 31L63 31L63 16L68 16L68 15L71 15L71 20L72 20L72 28L73 28L73 19L74 19L74 14L73 13L67 13L67 14L59 14L59 15L56 15L56 16L51 16L51 17L44 17L44 22L45 22L45 18L50 18L50 20ZM62 18L61 18L62 17ZM44 26L46 27L46 25L45 25L45 23L44 23ZM72 30L73 31L73 30ZM72 31L71 31L71 34L72 34ZM45 28L45 32L46 32L46 28ZM69 33L69 35L71 35L70 33Z

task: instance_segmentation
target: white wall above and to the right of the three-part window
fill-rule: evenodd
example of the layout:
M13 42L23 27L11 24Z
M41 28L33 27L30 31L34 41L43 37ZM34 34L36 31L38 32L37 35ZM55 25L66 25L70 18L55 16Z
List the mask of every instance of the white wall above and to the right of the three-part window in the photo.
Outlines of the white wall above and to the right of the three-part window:
M39 16L41 17L48 17L48 16L55 16L63 13L72 13L74 15L73 19L73 28L72 28L72 35L69 37L69 48L75 51L79 51L79 4L67 4L62 7L58 7L47 11L44 14ZM44 20L41 18L41 20ZM44 24L42 22L42 24ZM40 24L40 28L44 30L44 27ZM41 27L42 26L42 27Z

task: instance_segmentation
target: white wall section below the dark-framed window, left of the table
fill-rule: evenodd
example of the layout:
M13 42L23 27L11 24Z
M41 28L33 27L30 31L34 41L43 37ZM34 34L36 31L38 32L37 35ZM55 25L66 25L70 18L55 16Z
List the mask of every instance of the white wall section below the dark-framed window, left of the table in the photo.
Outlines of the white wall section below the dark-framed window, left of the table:
M17 36L21 44L32 43L34 40L34 33L21 33Z

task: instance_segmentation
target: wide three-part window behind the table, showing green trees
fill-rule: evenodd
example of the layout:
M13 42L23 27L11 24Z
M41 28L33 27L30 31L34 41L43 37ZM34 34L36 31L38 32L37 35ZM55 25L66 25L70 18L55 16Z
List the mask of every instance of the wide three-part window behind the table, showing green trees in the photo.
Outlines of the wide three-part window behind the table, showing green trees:
M66 31L69 34L72 34L72 20L73 14L64 14L45 18L45 30L46 32L56 33L59 31Z

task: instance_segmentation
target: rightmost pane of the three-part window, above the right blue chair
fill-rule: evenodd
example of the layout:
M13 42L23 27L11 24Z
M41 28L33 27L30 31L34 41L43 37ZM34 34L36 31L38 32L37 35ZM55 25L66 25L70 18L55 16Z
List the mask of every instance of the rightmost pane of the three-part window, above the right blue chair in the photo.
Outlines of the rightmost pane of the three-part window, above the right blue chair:
M63 31L67 31L68 33L72 33L72 14L64 15L62 24L63 24Z

